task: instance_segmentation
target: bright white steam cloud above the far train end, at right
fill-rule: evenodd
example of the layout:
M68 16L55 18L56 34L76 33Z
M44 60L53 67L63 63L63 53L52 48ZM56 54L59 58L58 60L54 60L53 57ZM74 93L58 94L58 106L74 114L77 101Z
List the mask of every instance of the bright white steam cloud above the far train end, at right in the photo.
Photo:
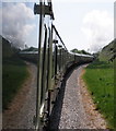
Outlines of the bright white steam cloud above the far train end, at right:
M106 11L93 10L83 19L82 32L90 51L98 51L114 38L114 21Z

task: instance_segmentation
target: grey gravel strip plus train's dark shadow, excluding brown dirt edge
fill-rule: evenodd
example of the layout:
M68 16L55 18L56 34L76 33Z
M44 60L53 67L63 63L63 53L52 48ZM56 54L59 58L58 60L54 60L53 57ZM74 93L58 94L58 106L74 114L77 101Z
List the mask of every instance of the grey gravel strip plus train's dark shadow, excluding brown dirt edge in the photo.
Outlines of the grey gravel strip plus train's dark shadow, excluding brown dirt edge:
M82 67L68 73L54 108L50 129L89 129L78 85L81 71Z

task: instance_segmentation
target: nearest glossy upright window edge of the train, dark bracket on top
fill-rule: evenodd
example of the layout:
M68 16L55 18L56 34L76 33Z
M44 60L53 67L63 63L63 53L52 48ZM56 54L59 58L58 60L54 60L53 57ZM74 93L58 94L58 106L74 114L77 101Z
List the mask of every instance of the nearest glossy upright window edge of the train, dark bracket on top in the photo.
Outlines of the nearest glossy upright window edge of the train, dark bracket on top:
M53 58L53 31L54 20L51 2L40 0L39 4L34 5L34 13L39 14L38 31L38 63L37 63L37 95L36 95L36 116L35 129L47 123L50 112L50 87L51 87L51 58Z

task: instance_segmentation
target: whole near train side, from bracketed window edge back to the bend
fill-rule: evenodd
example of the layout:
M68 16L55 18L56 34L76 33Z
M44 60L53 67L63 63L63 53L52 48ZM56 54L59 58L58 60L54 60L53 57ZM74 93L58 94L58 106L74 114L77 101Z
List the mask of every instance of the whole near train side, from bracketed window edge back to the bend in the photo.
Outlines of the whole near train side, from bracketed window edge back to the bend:
M36 129L45 126L44 121L49 119L57 94L60 80L66 70L67 48L53 25L53 15L44 14L44 8L51 8L51 2L39 2L35 4L35 13L40 8L39 37L38 37L38 80L36 99ZM51 11L51 10L50 10ZM39 12L38 12L39 13ZM46 120L47 119L47 120ZM43 122L42 122L43 120Z

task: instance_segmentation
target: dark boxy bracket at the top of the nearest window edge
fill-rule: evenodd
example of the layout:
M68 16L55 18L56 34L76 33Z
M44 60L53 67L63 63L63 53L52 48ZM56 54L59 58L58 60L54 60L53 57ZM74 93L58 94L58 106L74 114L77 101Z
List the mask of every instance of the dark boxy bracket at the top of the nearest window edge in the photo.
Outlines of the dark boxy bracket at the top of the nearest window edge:
M43 11L44 10L44 11ZM39 4L34 4L34 14L45 14L45 15L50 15L53 16L53 11L50 5L39 5Z

